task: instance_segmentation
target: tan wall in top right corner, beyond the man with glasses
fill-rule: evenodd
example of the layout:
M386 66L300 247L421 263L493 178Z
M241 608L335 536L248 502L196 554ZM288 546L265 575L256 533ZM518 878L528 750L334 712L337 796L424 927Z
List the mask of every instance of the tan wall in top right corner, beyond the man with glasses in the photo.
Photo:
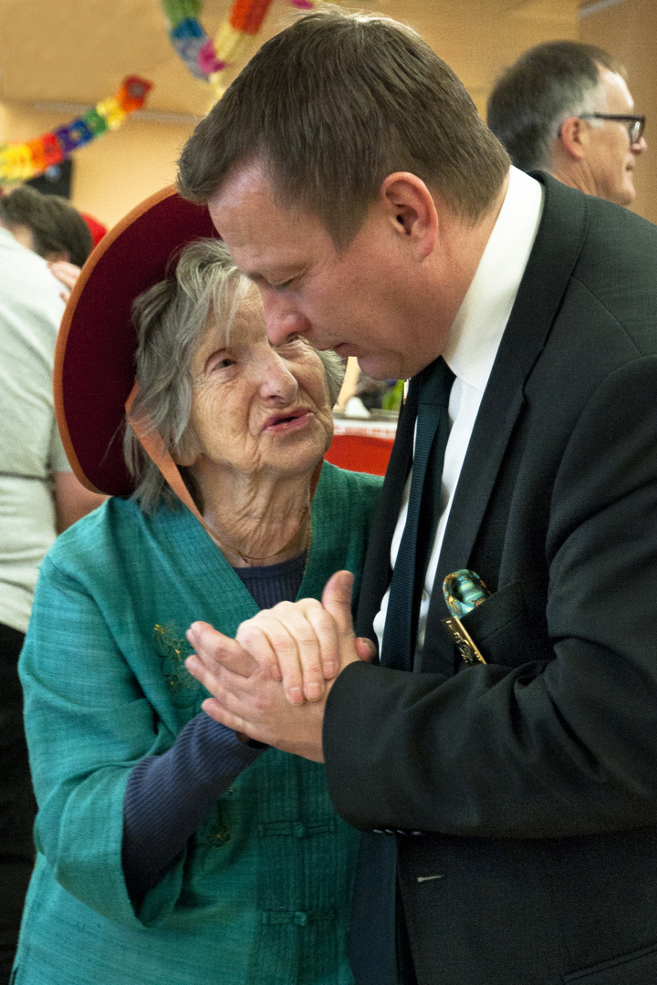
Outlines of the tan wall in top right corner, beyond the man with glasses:
M622 0L615 6L597 10L581 18L579 37L621 59L627 69L636 111L647 116L648 150L634 171L633 211L657 223L657 3Z

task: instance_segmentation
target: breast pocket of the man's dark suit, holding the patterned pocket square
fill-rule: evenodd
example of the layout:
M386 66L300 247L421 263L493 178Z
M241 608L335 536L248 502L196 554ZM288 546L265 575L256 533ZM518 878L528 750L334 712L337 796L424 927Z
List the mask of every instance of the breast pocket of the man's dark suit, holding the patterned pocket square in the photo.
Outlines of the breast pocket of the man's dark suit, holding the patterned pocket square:
M461 622L487 663L520 667L555 656L540 586L504 585Z

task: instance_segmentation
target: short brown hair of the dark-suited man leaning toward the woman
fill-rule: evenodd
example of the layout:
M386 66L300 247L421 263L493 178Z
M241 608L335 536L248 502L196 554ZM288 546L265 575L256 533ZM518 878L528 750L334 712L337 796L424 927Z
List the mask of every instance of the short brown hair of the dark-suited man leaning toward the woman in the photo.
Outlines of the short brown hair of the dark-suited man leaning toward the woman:
M313 12L256 52L196 128L181 194L207 201L258 161L287 207L349 245L394 171L411 171L466 221L493 206L508 157L451 69L387 18Z

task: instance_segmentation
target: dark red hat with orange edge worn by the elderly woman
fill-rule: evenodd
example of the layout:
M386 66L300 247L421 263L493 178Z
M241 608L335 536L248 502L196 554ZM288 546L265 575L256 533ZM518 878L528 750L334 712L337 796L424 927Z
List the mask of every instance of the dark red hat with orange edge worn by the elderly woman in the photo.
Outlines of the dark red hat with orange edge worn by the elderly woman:
M123 458L135 382L132 303L174 269L182 246L205 236L217 236L207 207L164 188L107 232L71 292L55 350L55 414L73 471L95 493L135 488Z

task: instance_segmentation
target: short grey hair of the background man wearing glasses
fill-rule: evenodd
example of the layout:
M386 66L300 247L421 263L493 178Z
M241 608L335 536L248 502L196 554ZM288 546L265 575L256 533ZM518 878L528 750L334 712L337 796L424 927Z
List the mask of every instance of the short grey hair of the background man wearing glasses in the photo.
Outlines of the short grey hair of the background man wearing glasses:
M516 167L551 169L563 120L600 108L601 65L626 81L624 66L602 48L546 41L500 76L489 98L488 123Z

